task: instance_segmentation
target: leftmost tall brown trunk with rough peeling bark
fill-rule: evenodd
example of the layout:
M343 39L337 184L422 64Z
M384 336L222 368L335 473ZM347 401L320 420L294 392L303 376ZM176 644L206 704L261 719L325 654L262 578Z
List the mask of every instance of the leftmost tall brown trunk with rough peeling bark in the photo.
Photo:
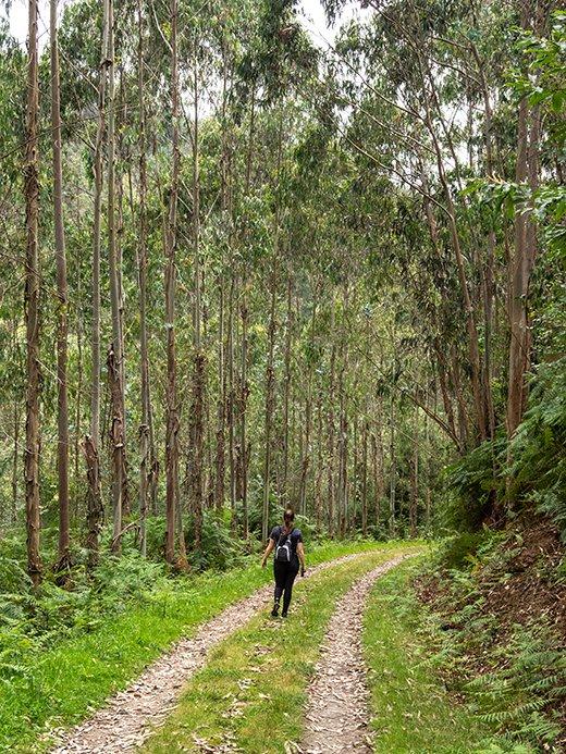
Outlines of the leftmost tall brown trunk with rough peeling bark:
M27 529L27 572L34 586L41 580L39 556L39 171L37 119L39 112L37 20L38 0L28 4L27 119L24 190L26 208L26 452L25 502Z

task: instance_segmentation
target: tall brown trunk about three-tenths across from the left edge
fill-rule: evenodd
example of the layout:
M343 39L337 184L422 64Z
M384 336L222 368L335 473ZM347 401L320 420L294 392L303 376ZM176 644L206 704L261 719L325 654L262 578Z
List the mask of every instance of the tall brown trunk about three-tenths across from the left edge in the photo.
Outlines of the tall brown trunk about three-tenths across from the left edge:
M169 214L165 230L165 327L167 327L167 419L165 419L165 560L175 560L175 508L180 505L179 490L179 415L176 396L175 354L175 254L177 244L179 197L179 59L177 59L177 0L171 0L171 118L172 165L169 193ZM182 531L180 532L182 535Z

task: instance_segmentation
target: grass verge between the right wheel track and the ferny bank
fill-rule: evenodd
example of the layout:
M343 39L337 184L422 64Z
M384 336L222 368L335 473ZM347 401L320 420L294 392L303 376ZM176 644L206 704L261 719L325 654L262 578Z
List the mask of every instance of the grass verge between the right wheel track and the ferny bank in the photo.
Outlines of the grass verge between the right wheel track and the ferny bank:
M380 579L365 616L374 751L379 754L471 754L509 751L442 685L427 657L422 609L409 585L419 564ZM489 739L489 740L488 740ZM502 742L503 745L503 742Z

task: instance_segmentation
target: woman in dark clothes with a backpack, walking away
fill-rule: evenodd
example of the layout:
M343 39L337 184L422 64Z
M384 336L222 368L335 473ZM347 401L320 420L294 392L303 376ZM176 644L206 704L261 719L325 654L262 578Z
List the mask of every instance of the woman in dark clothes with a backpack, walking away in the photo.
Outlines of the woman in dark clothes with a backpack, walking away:
M281 595L283 595L283 610L281 617L287 617L291 594L293 592L293 582L299 571L299 563L300 576L305 576L305 547L303 546L303 534L300 533L300 529L295 529L293 524L294 520L295 511L293 508L286 508L283 514L283 524L273 528L269 537L269 544L261 558L261 568L264 568L268 557L273 549L275 551L273 560L275 600L273 609L271 610L273 618L276 618L279 615Z

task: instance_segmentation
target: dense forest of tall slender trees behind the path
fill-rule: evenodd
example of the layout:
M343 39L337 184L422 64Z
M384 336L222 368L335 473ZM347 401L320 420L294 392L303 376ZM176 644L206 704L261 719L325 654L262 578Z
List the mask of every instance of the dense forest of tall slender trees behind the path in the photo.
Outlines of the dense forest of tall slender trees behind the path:
M564 13L369 9L315 45L291 0L51 3L40 55L36 2L28 54L4 23L0 531L35 583L123 541L206 565L287 504L564 523Z

